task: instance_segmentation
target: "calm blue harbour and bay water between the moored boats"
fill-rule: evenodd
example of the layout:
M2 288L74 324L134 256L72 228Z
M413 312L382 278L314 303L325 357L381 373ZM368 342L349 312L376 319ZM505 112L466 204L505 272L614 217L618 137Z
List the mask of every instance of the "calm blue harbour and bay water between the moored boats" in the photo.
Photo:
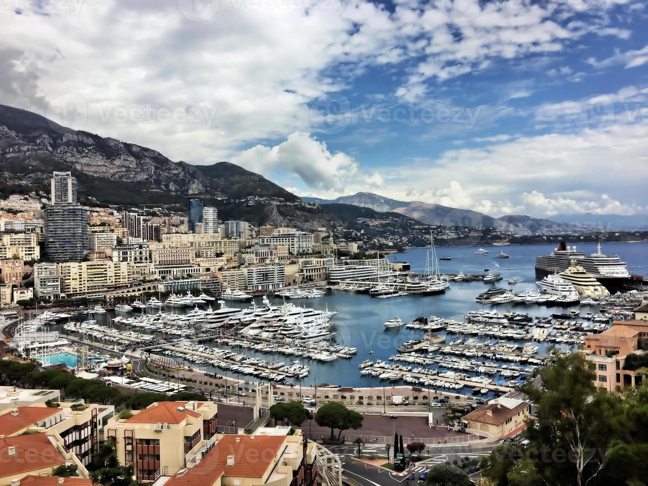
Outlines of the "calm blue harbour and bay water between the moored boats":
M490 251L489 255L475 255L478 247L453 247L437 249L437 257L452 257L451 261L440 261L441 273L483 273L489 269L493 273L500 273L503 281L498 286L510 287L515 292L522 292L526 288L537 289L535 284L535 257L547 254L553 249L550 245L519 245L519 246L484 246ZM583 244L579 249L585 253L594 253L596 244ZM511 255L509 259L496 259L500 250ZM608 254L617 254L622 260L628 263L631 273L648 273L648 242L639 243L617 243L605 244L603 251ZM413 272L424 272L426 261L426 248L413 248L407 253L391 255L391 261L407 261L411 264ZM518 281L515 285L507 284L507 280L515 277ZM474 298L488 288L488 284L481 281L456 282L452 283L445 294L431 295L428 297L404 296L391 299L375 299L365 294L353 292L329 291L325 297L319 299L303 299L290 301L295 305L312 307L317 309L335 310L338 314L333 318L337 323L336 330L338 343L358 348L358 354L350 360L337 360L336 362L319 363L308 362L310 365L309 375L303 379L302 384L311 385L317 383L341 384L347 386L378 386L378 379L373 376L361 376L358 364L364 360L376 359L388 360L389 356L397 353L396 347L406 340L420 339L423 336L422 330L410 330L404 327L396 330L384 330L382 323L394 317L400 317L406 322L417 316L438 316L448 319L463 321L463 314L469 310L479 308L491 308L482 306L474 301ZM262 305L260 297L256 299L257 305ZM270 298L273 304L281 304L280 299ZM230 307L247 307L244 303L228 303ZM531 316L550 316L552 312L568 312L570 308L511 305L499 306L498 310L503 312L512 308L516 312L527 312ZM597 308L581 307L581 312L598 312ZM102 321L105 316L98 319ZM439 332L443 334L443 332ZM451 335L446 342L454 339ZM524 345L525 341L518 341L516 344ZM536 343L537 344L537 343ZM544 351L543 345L540 353ZM282 354L254 353L250 350L241 350L251 355L262 357L264 360L281 360L290 362L292 356ZM373 351L373 354L370 354ZM441 355L443 356L443 355ZM294 359L294 358L292 358ZM222 373L217 369L211 369Z

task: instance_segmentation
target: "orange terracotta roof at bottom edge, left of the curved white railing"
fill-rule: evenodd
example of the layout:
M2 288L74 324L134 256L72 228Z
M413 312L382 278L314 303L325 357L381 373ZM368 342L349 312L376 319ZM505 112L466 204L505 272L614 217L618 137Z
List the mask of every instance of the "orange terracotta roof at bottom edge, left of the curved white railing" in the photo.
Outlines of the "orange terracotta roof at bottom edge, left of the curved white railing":
M212 486L221 475L262 478L286 442L284 435L224 435L198 465L176 473L165 486ZM240 442L237 443L237 438ZM234 465L227 465L234 456Z

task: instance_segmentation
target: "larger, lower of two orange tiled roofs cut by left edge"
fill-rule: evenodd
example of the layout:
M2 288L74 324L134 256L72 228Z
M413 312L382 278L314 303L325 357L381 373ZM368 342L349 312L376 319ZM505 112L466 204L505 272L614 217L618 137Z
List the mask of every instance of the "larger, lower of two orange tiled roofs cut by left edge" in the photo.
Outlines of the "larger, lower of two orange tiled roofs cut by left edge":
M9 447L16 448L16 455L9 456ZM16 435L0 439L0 474L2 477L30 472L65 464L45 434Z

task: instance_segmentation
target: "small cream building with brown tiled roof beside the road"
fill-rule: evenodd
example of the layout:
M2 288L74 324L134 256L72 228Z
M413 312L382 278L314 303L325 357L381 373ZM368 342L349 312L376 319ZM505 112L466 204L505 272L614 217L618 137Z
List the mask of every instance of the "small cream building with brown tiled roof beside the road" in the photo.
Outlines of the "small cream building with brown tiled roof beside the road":
M524 429L529 402L500 397L464 415L461 421L475 434L500 439Z

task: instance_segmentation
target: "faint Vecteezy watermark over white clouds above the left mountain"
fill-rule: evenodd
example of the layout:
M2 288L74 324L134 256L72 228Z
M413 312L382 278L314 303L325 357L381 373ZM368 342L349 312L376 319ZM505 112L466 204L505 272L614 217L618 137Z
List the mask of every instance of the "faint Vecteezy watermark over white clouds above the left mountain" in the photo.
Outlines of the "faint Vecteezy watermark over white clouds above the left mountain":
M49 102L45 117L51 121L51 128L58 132L67 128L83 130L89 117L101 123L191 123L207 128L214 124L216 108L209 106L168 108L150 104L128 107L111 103L88 104L78 93L64 93Z

